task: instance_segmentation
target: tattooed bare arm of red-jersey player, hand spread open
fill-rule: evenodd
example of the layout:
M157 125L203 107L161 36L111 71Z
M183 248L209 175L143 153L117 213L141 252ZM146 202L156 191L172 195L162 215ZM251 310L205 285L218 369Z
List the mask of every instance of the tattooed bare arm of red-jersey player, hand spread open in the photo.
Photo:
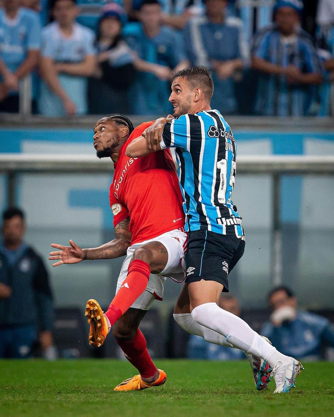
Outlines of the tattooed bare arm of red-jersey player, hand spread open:
M63 246L52 243L51 246L60 251L50 252L49 259L60 259L52 266L62 264L78 264L85 259L115 259L126 255L126 249L130 246L131 232L129 231L130 217L119 222L115 228L115 239L98 246L97 248L81 249L70 239L71 246Z

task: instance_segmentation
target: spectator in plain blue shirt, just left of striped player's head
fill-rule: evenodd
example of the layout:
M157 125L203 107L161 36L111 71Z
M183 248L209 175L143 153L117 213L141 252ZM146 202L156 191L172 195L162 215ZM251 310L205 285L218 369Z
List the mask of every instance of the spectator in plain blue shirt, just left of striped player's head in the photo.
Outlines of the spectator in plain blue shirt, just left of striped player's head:
M135 52L138 70L133 91L133 113L146 115L170 112L168 102L172 72L187 66L188 61L178 34L161 24L161 5L144 0L138 13L141 23L126 28L126 40Z

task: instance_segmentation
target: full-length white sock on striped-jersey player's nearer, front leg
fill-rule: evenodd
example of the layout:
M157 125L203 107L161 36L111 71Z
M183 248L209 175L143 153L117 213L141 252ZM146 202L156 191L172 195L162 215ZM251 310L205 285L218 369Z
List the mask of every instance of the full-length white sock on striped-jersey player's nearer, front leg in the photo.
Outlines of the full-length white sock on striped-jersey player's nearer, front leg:
M244 320L221 309L216 303L205 303L195 307L191 316L196 323L225 336L226 341L234 347L264 360L269 360L271 366L274 366L278 361L285 362L287 360L285 355L279 353L275 347L254 332Z

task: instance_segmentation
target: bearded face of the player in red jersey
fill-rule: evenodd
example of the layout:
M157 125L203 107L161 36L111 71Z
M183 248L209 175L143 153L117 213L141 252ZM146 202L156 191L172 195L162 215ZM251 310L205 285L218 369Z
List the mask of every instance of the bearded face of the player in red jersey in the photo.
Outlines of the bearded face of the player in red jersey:
M110 157L121 143L118 126L112 120L98 120L94 126L93 141L98 158Z

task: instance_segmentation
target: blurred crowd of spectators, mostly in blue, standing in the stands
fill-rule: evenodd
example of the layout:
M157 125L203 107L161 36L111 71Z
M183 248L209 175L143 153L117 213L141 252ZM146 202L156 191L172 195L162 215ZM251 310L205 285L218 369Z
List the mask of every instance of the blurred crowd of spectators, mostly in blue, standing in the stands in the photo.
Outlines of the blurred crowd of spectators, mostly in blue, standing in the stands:
M166 114L171 74L211 69L224 115L334 113L333 0L0 0L0 111L31 76L44 116Z

